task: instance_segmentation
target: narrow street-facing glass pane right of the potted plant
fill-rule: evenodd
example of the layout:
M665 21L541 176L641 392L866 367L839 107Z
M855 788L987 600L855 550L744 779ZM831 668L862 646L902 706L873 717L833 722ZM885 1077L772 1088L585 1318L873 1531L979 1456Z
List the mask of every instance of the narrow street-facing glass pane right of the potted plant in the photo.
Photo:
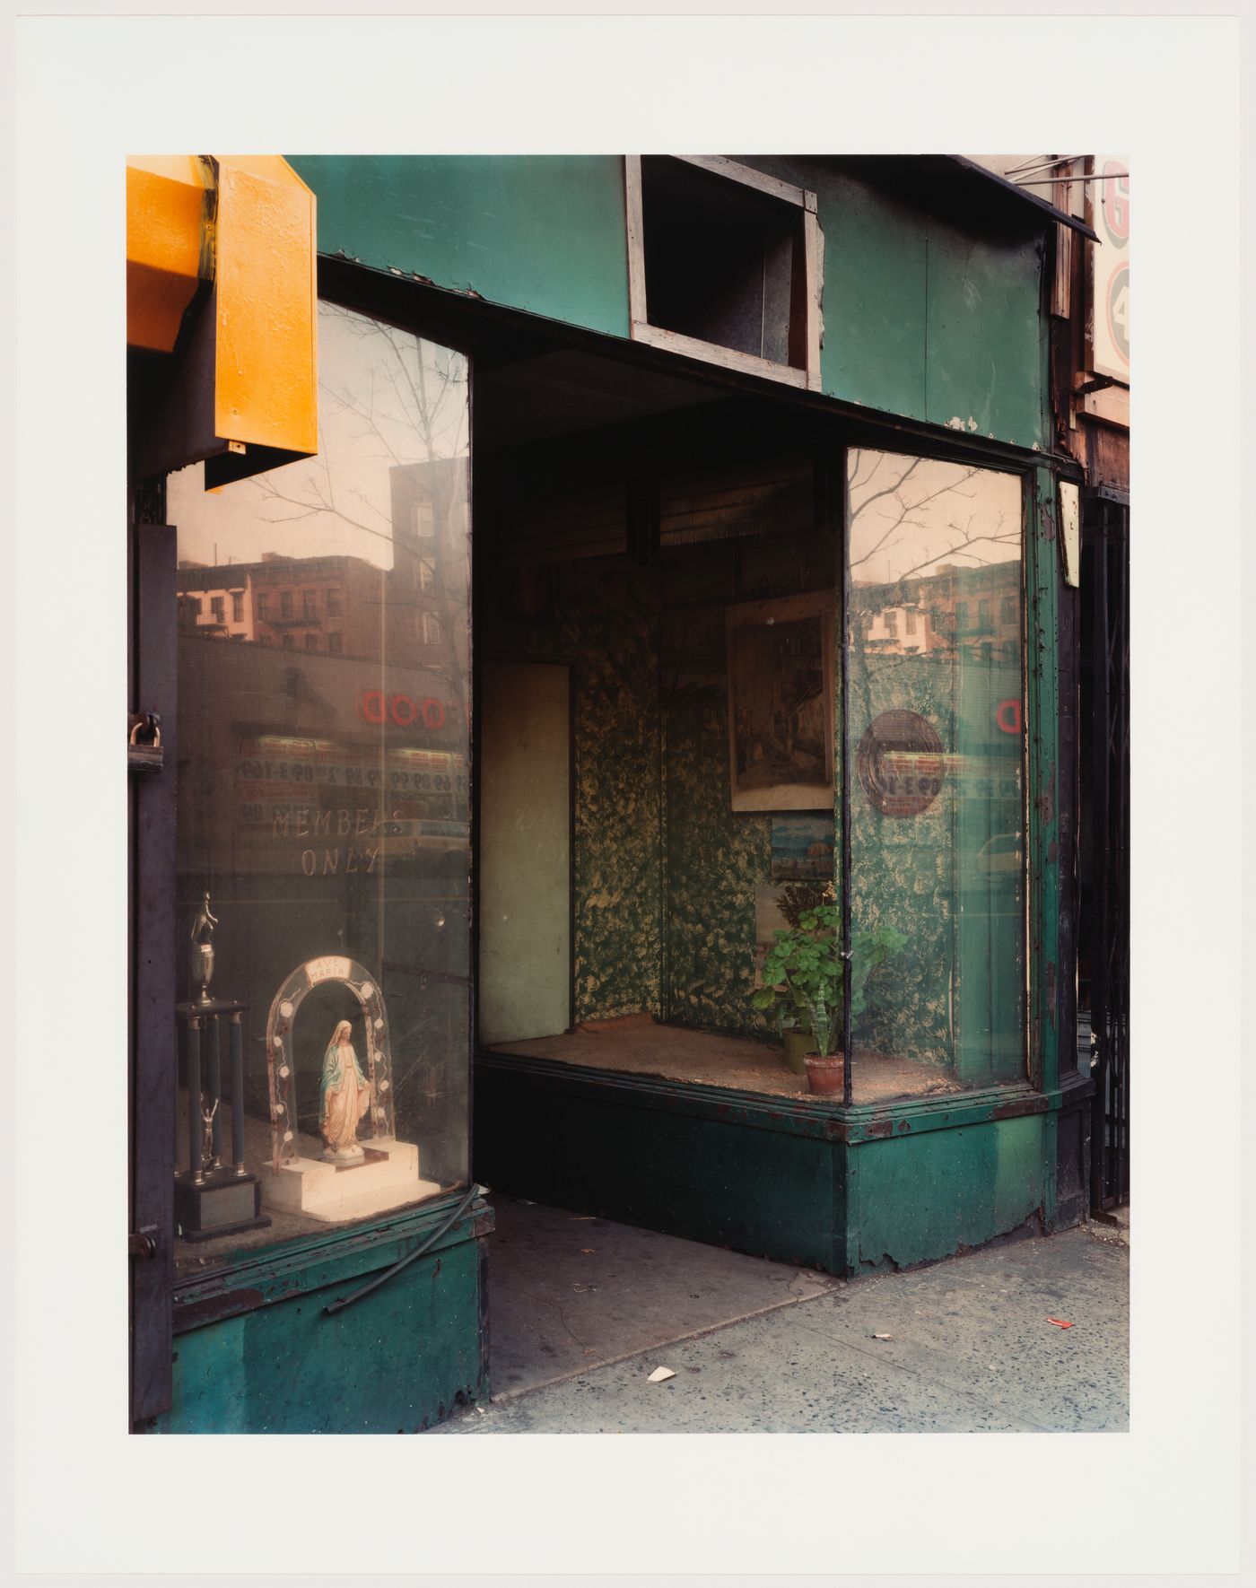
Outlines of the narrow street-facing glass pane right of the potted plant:
M848 461L854 1102L1026 1077L1016 475Z

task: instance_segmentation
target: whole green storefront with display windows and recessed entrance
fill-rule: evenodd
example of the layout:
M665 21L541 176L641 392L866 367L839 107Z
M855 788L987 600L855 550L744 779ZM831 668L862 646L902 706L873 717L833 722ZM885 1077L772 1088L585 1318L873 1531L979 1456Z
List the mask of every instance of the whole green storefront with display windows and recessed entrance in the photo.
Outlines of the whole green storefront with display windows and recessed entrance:
M135 1426L486 1394L478 1181L846 1275L1081 1216L1086 227L948 159L287 168L316 443L154 470L132 383Z

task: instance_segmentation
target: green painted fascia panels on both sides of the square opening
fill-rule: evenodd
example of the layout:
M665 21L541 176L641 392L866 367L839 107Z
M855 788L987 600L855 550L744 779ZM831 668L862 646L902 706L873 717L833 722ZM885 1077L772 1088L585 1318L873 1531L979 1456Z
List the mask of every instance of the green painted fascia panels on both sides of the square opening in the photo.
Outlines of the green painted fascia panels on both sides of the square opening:
M289 156L319 251L611 337L629 335L616 156ZM816 194L826 395L1042 448L1043 229L980 191L894 186L867 162L742 156ZM897 162L896 162L897 164ZM950 197L950 195L948 195Z

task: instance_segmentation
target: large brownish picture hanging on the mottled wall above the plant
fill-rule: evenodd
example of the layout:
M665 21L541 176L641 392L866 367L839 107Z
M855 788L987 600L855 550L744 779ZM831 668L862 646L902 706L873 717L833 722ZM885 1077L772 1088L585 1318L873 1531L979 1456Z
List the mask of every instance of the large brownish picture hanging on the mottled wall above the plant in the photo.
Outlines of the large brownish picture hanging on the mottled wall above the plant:
M734 810L834 808L834 592L729 607Z

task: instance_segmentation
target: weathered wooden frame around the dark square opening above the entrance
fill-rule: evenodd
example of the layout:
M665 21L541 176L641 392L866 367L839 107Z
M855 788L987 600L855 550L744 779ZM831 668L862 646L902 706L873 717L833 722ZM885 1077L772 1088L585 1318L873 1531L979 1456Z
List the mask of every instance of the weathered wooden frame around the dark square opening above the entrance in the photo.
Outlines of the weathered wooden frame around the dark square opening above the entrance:
M624 203L627 210L627 251L629 251L629 335L634 341L641 341L651 348L667 353L680 353L689 359L702 359L707 364L718 364L726 370L738 370L743 375L759 375L765 380L781 381L796 386L799 391L821 391L819 381L819 349L824 333L821 318L821 294L824 284L824 233L819 230L816 214L816 195L805 187L783 183L775 176L765 176L749 165L722 156L707 154L675 154L672 159L683 165L694 165L715 176L722 176L730 183L754 187L770 194L783 203L796 205L802 211L803 237L803 302L807 314L805 346L807 367L792 364L776 364L773 359L761 359L753 353L738 353L735 348L724 348L716 341L703 341L700 337L686 337L678 330L665 330L662 326L651 326L646 305L645 278L645 202L641 192L641 156L624 156Z

